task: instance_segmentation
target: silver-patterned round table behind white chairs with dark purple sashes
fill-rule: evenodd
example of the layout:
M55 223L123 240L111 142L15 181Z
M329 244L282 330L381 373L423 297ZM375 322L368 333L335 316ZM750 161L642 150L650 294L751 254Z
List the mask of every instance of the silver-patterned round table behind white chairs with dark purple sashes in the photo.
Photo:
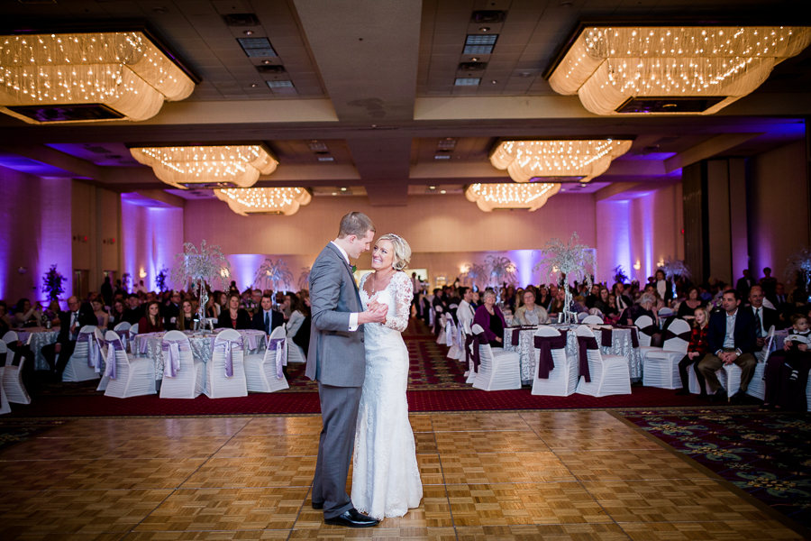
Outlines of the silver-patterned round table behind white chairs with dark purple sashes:
M566 340L566 356L578 354L578 337L574 327L570 330ZM533 353L533 338L537 327L506 328L504 329L504 349L507 352L518 352L521 359L521 381L524 385L532 385L535 374L535 355ZM642 380L642 354L639 348L633 347L631 329L612 329L611 347L602 345L602 331L593 329L600 352L606 355L621 355L628 360L631 371L631 381ZM518 345L513 345L513 333L518 333Z

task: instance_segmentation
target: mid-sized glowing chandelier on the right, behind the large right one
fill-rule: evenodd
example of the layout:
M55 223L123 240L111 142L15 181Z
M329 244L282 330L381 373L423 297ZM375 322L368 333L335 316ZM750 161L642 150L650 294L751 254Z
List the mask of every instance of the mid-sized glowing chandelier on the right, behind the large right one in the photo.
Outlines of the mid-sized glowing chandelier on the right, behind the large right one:
M588 182L606 172L611 160L631 148L629 140L502 141L490 163L515 182L536 178Z

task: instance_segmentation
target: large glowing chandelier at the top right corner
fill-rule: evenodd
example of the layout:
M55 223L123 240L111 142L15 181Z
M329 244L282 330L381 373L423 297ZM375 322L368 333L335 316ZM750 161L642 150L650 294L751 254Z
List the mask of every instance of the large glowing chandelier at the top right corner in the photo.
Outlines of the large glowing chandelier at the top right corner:
M547 74L597 115L711 115L811 42L789 26L588 26Z

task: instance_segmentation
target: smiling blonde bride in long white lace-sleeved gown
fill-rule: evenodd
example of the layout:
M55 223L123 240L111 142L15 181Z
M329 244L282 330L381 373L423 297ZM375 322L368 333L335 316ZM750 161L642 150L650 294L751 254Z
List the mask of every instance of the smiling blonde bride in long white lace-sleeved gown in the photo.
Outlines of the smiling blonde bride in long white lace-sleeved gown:
M363 308L388 307L385 323L363 326L366 380L352 463L352 504L374 518L402 517L423 498L405 399L408 349L401 334L411 313L413 286L403 272L410 259L403 238L384 234L372 252L374 272L360 279Z

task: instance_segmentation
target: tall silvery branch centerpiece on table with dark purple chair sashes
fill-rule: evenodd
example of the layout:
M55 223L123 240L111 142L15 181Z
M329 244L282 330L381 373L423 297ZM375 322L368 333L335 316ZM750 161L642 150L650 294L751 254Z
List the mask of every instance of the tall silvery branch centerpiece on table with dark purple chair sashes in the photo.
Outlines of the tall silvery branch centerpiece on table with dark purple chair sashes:
M563 303L563 314L566 321L570 321L574 316L571 311L569 280L586 282L588 288L591 288L591 277L597 274L597 261L594 253L586 244L579 244L579 240L577 232L571 234L568 244L557 238L551 239L540 251L541 262L533 267L533 271L542 271L545 276L553 277L558 282L558 286L563 288L566 296Z

